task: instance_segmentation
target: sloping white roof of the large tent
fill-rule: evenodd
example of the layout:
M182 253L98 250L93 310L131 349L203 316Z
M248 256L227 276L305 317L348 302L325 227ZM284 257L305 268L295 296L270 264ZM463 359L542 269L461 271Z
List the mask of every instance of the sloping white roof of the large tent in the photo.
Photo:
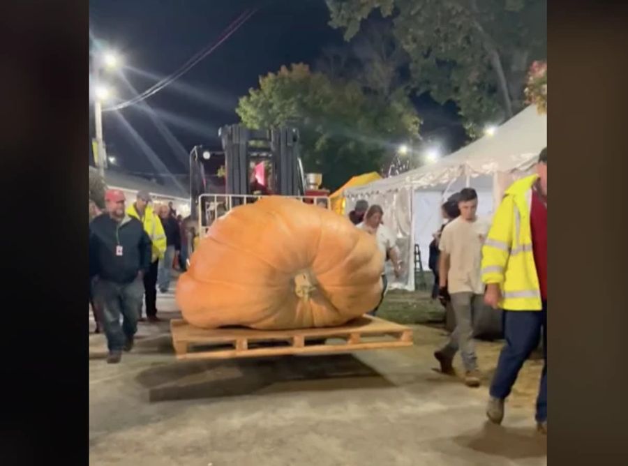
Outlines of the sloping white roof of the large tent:
M405 186L428 188L446 185L460 176L474 178L495 172L528 170L546 145L547 116L539 114L537 107L530 105L503 123L493 136L484 136L437 163L366 186L348 188L346 195L360 197Z

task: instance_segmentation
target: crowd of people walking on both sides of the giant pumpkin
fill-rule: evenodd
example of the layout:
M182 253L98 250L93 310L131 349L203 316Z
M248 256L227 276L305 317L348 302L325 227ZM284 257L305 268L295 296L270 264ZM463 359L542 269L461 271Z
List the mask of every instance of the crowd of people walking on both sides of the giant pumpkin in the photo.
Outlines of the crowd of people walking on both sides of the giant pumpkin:
M142 301L147 320L158 322L157 289L167 292L173 267L186 267L195 232L190 219L182 219L169 206L152 206L149 193L140 191L126 207L124 193L107 190L105 212L90 204L90 302L107 336L107 362L117 363L133 348ZM481 383L473 343L474 315L482 306L501 309L505 344L490 387L486 414L494 423L504 417L504 400L523 363L543 339L547 341L547 149L537 173L516 181L504 194L492 222L477 216L478 197L464 188L442 205L444 224L434 234L430 268L435 276L433 297L451 306L456 327L435 359L444 374L454 374L452 361L460 352L464 382ZM385 262L395 276L402 261L396 237L383 221L379 205L360 200L349 218L375 237ZM183 260L181 260L183 259ZM382 269L382 297L387 291ZM121 321L122 317L122 323ZM547 432L547 362L541 374L536 420Z

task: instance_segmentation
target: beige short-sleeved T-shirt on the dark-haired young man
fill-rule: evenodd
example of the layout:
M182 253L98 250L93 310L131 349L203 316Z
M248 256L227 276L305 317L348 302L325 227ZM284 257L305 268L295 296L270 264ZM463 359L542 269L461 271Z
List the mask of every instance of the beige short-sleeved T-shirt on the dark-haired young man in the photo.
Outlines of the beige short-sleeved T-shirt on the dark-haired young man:
M485 218L473 222L458 217L442 230L438 246L449 254L449 293L484 293L481 278L482 245L491 224Z

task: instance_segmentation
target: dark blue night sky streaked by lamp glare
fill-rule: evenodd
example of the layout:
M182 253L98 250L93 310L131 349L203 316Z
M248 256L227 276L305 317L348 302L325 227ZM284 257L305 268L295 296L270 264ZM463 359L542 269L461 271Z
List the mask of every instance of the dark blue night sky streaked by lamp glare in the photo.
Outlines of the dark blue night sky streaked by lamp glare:
M218 128L238 122L237 100L257 86L260 75L284 64L313 65L323 47L343 43L341 31L327 24L324 0L90 0L89 6L91 35L124 56L124 78L137 92L215 43L244 10L259 8L209 57L144 100L174 138L163 136L145 106L105 112L107 153L131 172L188 172L187 153L196 144L219 147ZM135 95L124 78L110 78L119 100ZM444 133L451 150L462 144L454 105L440 107L425 95L414 103L424 119L421 133Z

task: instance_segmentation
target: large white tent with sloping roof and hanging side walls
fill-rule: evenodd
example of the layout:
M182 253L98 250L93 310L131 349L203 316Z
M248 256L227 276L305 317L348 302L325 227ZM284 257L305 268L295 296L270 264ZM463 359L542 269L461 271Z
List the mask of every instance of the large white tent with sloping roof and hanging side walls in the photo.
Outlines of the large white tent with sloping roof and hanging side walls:
M485 136L442 158L398 176L374 181L345 191L347 211L358 199L380 204L384 223L396 231L397 246L405 263L405 275L391 288L414 290L414 245L427 269L432 234L442 224L440 204L465 186L477 190L478 212L492 216L504 190L528 174L547 146L547 117L534 105L503 123L493 136Z

